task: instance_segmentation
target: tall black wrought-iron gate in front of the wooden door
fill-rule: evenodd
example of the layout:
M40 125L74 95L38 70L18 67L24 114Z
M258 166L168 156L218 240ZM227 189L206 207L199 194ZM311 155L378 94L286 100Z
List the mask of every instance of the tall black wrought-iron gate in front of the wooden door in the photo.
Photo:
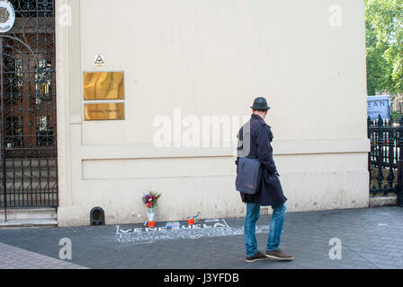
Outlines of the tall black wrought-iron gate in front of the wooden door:
M0 208L58 207L55 0L10 0L0 34Z

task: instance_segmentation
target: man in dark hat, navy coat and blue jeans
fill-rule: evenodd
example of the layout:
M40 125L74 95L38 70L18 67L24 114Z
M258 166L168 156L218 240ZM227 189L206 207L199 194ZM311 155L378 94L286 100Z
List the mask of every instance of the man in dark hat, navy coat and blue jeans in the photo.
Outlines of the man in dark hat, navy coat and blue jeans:
M250 121L243 126L238 134L238 156L248 156L259 159L262 167L260 187L254 195L241 193L241 198L246 203L245 241L246 262L255 262L267 258L277 260L292 260L293 257L280 249L282 236L282 224L286 212L285 202L287 198L282 193L279 174L273 161L273 149L271 142L273 134L271 127L264 122L270 107L264 98L255 99L253 115ZM241 154L244 152L244 154ZM265 254L257 250L255 237L256 222L260 217L261 206L273 208L272 222L269 229L269 238Z

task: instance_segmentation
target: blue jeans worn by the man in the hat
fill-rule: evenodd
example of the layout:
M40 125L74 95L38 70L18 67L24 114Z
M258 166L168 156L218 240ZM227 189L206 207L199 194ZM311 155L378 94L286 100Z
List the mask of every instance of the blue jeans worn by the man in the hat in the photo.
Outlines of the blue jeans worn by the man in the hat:
M255 236L256 222L260 217L260 204L246 204L245 218L245 245L246 257L253 257L257 252L257 241ZM267 239L268 251L280 248L280 239L282 237L282 224L284 222L287 208L285 204L272 206L273 216L270 223L269 238Z

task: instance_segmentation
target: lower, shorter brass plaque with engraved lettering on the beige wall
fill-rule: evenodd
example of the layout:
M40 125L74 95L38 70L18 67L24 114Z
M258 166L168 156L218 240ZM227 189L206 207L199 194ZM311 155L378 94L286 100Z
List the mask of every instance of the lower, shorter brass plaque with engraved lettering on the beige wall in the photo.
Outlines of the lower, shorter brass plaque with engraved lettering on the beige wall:
M85 120L115 120L124 119L124 104L86 104Z

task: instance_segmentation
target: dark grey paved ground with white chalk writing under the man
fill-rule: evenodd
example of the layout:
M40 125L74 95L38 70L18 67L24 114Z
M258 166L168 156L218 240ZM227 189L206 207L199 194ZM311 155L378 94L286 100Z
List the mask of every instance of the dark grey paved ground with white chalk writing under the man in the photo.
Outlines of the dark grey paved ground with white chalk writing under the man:
M244 220L0 230L0 269L403 269L403 208L287 213L291 262L246 263ZM269 222L257 222L262 251Z

